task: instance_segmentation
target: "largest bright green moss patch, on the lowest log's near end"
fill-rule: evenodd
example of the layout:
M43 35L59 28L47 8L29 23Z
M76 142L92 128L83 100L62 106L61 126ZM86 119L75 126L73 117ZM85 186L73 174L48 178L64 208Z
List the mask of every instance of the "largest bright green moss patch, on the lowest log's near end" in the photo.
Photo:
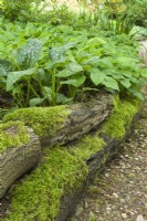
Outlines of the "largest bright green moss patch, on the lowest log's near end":
M13 190L11 212L6 221L55 220L62 196L74 193L86 179L85 159L103 146L104 141L96 135L83 138L75 147L46 149L44 162Z

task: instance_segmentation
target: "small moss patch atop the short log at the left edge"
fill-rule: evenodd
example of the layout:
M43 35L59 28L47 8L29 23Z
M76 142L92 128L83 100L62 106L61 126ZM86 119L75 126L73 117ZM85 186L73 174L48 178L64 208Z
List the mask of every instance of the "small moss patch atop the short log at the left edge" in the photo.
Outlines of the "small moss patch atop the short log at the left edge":
M0 124L0 155L7 148L20 147L22 144L28 144L29 140L30 137L23 123L9 122Z

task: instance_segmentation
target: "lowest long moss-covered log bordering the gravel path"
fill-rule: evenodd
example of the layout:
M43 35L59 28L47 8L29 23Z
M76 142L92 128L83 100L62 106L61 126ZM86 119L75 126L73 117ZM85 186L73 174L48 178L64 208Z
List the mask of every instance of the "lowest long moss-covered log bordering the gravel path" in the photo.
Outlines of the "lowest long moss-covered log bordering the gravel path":
M42 164L12 189L4 221L67 220L88 181L118 151L139 108L139 102L120 102L117 97L111 116L97 131L72 146L46 148Z

